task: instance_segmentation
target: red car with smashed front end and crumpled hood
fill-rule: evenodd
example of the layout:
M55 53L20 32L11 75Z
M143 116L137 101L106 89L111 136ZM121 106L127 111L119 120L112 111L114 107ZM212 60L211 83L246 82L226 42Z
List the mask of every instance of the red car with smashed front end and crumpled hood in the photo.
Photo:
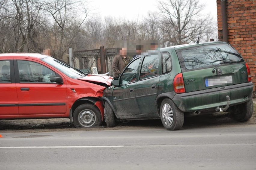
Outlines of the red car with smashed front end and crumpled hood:
M0 119L70 118L75 127L99 126L99 98L111 80L47 55L0 54Z

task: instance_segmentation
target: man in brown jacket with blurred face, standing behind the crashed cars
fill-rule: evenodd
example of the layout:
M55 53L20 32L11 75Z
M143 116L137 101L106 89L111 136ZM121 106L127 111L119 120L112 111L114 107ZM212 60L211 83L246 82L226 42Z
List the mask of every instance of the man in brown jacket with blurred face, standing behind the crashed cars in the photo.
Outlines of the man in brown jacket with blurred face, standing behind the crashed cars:
M127 55L127 48L123 47L119 49L119 54L117 54L114 57L114 60L112 63L114 77L116 77L117 75L120 75L121 72L123 72L124 68L130 62L129 58L126 55Z

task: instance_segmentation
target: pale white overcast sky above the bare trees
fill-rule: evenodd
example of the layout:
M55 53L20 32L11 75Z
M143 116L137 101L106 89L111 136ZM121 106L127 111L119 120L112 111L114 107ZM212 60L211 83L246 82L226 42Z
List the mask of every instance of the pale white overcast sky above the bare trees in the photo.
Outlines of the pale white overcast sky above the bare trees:
M185 0L184 0L185 1ZM216 0L199 0L205 4L202 13L210 13L217 22ZM157 0L89 0L90 15L105 16L134 20L147 16L148 11L157 11Z

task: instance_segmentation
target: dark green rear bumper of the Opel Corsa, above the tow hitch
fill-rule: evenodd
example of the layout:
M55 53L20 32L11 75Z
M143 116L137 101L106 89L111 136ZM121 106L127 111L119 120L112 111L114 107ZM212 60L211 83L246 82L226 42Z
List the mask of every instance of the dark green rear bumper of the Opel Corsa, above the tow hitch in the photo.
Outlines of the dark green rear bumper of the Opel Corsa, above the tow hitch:
M253 83L235 84L212 89L200 90L175 94L173 102L183 112L193 112L196 110L215 109L226 106L226 96L230 97L230 106L248 101L253 94Z

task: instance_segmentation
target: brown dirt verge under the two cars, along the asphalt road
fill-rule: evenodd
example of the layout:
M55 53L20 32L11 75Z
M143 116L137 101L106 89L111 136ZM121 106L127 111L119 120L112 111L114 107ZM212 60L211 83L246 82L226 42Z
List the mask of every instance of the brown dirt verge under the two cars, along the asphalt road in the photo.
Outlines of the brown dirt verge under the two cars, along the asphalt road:
M194 117L185 117L182 129L207 128L219 126L245 126L256 125L256 104L254 104L254 114L247 122L237 122L230 113L213 113ZM81 131L81 130L128 130L128 129L148 129L164 128L161 120L138 120L119 122L114 128L106 128L102 125L98 128L75 128L69 119L16 119L0 120L0 132L53 132L53 131Z

